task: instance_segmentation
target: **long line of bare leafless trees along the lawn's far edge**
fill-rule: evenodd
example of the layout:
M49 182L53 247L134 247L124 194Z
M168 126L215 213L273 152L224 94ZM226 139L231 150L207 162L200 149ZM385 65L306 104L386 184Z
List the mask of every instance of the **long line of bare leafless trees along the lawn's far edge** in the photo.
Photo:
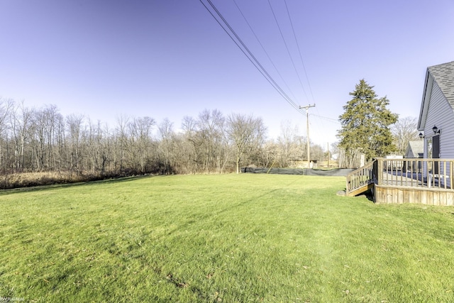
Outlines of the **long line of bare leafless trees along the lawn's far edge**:
M302 160L306 138L282 128L267 140L262 119L204 110L184 117L181 129L164 119L120 116L114 128L88 117L63 116L54 105L31 109L0 99L0 170L72 175L239 172L240 167L288 167ZM311 146L323 158L320 146ZM317 153L319 155L317 155Z

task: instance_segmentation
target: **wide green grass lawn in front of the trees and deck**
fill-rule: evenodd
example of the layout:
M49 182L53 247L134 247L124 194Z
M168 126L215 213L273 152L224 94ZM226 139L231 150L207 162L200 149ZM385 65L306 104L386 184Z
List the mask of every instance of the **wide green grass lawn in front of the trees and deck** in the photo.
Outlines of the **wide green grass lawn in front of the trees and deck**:
M140 177L0 192L0 298L453 302L454 208L344 177Z

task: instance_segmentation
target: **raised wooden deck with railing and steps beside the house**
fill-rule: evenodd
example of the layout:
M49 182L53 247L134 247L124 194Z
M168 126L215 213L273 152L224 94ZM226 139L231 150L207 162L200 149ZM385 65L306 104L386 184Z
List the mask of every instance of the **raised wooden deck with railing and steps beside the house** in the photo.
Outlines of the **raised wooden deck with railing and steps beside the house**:
M376 159L347 176L345 194L372 190L375 203L453 206L453 159Z

